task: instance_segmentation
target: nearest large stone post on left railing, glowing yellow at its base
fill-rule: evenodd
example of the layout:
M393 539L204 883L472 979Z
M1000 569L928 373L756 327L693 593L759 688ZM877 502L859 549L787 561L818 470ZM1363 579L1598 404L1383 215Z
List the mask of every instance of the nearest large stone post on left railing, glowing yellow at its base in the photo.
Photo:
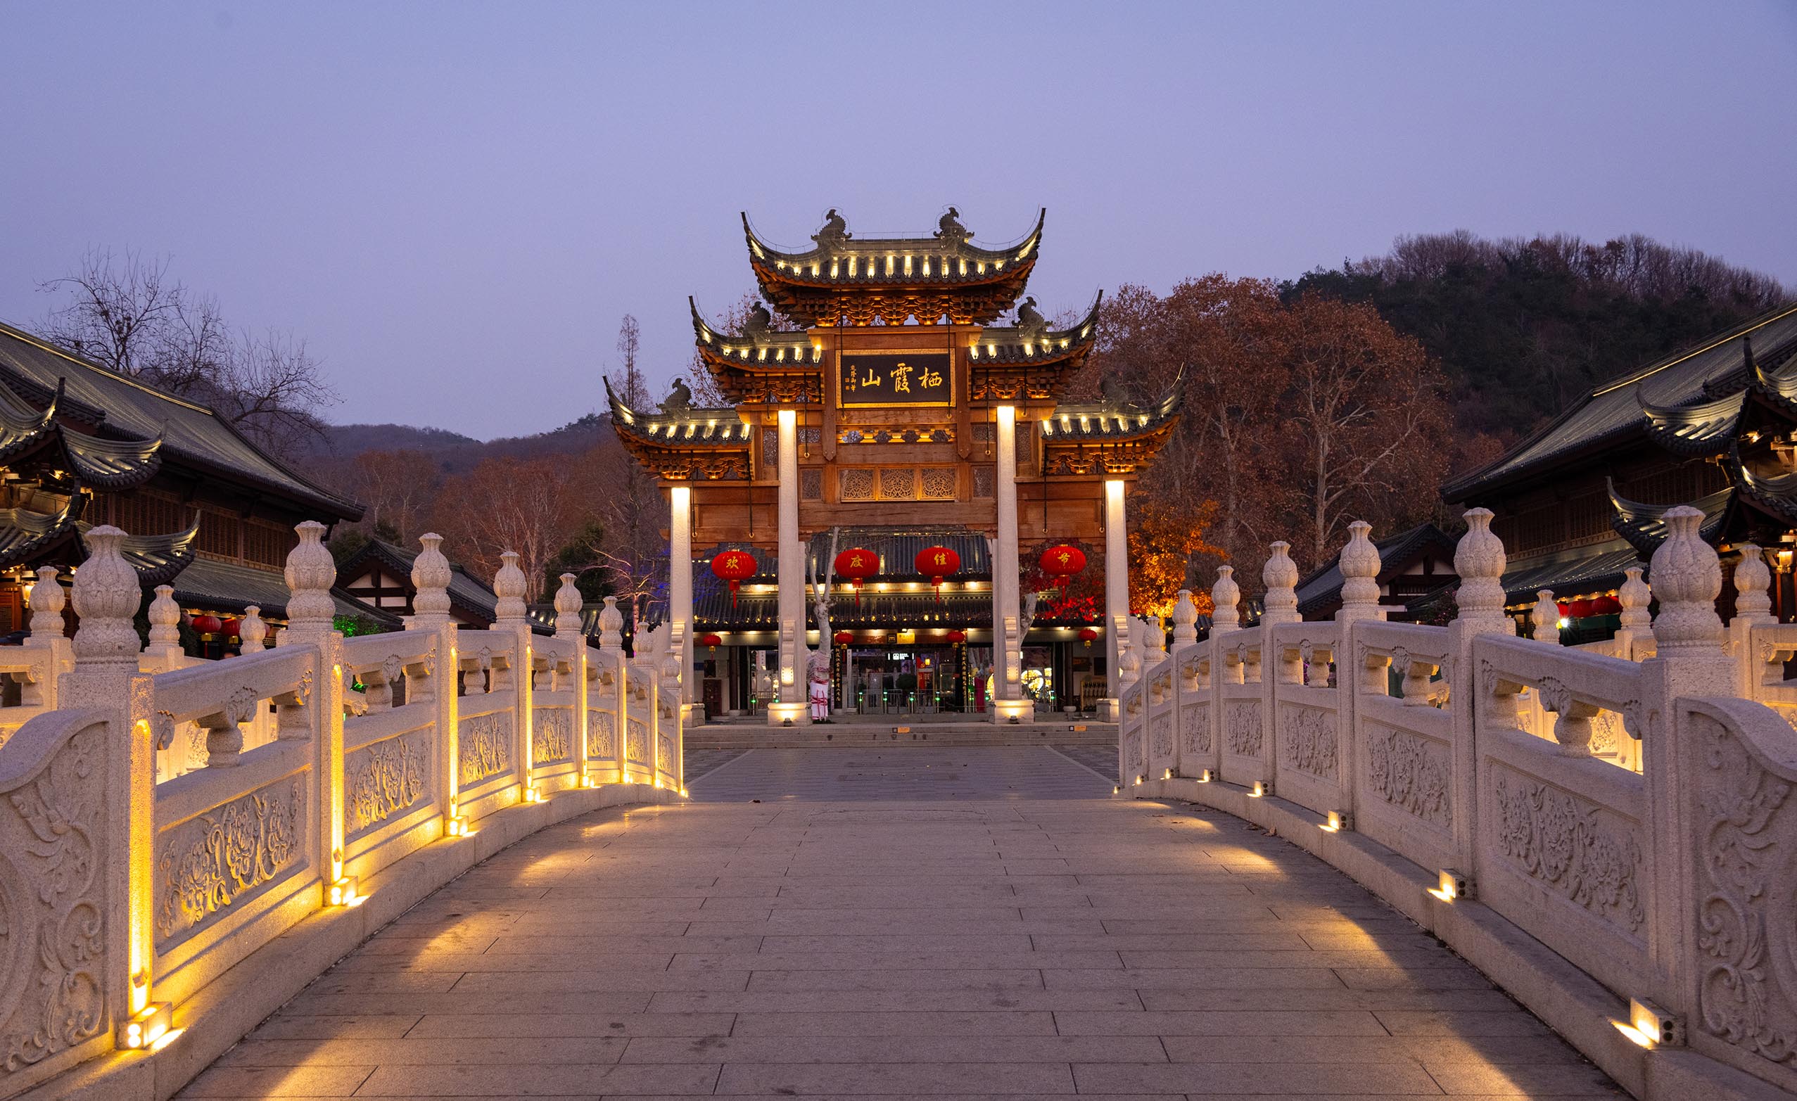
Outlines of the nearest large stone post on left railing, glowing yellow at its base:
M111 524L92 528L84 541L88 560L75 569L74 605L79 616L72 643L74 668L61 677L58 706L92 709L108 722L108 794L119 810L110 837L90 839L104 846L106 860L106 956L104 999L115 1017L129 1017L151 1002L155 961L155 839L156 754L153 713L155 679L138 672L137 629L131 620L144 602L137 571L124 560L126 533ZM54 602L47 602L54 603ZM50 607L45 630L61 632ZM36 625L36 623L34 623ZM14 930L20 932L20 930Z

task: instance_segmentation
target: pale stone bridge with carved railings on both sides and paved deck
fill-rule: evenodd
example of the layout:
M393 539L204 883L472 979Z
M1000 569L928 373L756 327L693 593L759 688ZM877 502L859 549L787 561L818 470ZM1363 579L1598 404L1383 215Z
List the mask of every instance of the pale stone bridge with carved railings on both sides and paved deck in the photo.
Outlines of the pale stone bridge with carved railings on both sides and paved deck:
M1797 625L1757 548L1722 623L1698 517L1596 647L1517 638L1484 510L1459 618L1384 621L1357 524L1330 621L1274 544L1258 625L1226 569L1209 638L1134 632L1116 776L753 749L690 799L681 639L589 647L571 586L458 630L428 550L343 639L302 524L279 645L190 663L95 528L74 643L0 661L0 1096L1788 1097Z

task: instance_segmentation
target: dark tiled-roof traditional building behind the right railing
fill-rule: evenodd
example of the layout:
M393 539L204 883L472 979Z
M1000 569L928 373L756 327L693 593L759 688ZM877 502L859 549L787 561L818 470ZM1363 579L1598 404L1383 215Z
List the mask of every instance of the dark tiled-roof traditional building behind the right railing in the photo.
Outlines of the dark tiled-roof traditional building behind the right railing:
M1772 611L1797 620L1797 307L1594 386L1441 496L1497 514L1509 611L1520 618L1538 589L1551 589L1565 641L1614 629L1624 571L1646 568L1675 505L1704 512L1704 539L1725 571L1736 546L1765 548ZM1723 584L1723 602L1731 595Z

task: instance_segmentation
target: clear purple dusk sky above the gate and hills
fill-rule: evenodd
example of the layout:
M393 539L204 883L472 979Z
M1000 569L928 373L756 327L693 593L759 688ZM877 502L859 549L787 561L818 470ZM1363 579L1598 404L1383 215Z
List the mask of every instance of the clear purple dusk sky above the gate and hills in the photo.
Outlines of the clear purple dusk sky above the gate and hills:
M872 14L877 11L879 14ZM0 318L88 246L305 336L332 420L532 433L618 318L805 244L983 241L1031 293L1290 277L1398 233L1642 232L1797 284L1797 7L1731 4L7 4Z

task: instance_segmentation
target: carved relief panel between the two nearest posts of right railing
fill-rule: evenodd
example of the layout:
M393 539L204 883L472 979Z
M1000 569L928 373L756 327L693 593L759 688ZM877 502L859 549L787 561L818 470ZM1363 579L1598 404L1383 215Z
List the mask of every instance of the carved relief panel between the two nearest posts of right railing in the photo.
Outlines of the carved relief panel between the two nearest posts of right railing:
M1633 824L1538 780L1493 769L1497 850L1522 875L1599 918L1639 934L1641 846Z

